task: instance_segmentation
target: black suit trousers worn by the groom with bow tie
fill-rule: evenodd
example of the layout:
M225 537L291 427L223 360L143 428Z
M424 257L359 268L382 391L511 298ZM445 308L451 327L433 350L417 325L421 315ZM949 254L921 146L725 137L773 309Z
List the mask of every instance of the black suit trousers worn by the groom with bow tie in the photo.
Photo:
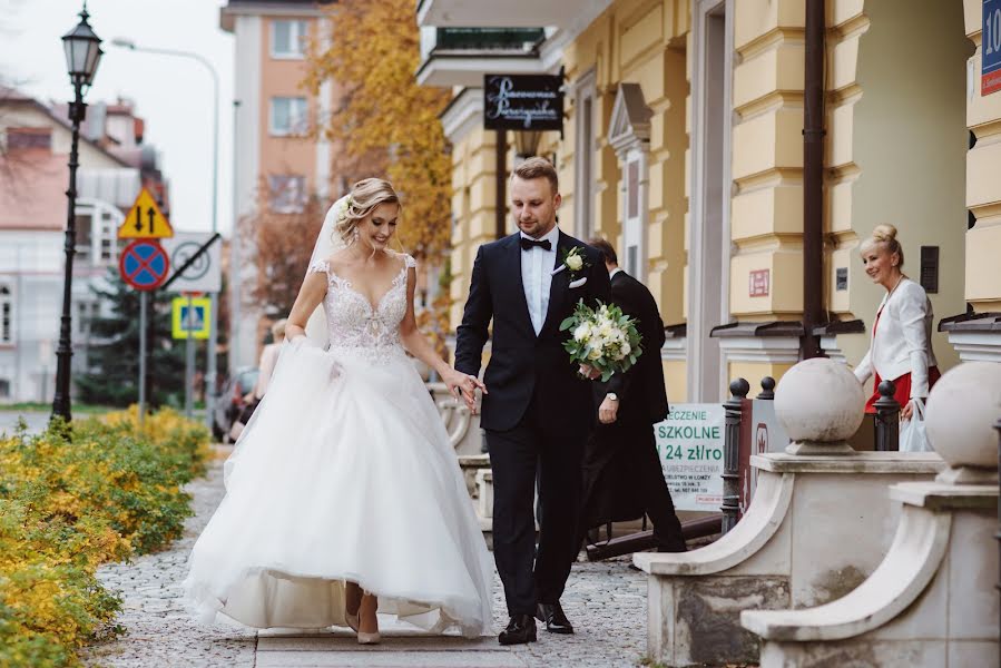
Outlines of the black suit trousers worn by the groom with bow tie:
M536 603L559 601L577 559L580 466L590 413L571 423L549 418L559 397L538 396L511 430L487 430L493 469L493 557L509 615L534 615ZM536 553L537 466L542 519ZM534 563L533 563L534 562Z

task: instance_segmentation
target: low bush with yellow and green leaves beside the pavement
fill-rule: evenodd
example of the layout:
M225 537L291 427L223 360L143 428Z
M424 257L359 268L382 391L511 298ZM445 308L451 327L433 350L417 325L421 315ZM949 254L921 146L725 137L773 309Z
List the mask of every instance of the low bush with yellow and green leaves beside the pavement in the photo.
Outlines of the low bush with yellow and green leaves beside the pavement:
M69 434L69 435L68 435ZM121 606L98 566L155 551L192 514L207 430L170 410L0 435L0 668L75 666Z

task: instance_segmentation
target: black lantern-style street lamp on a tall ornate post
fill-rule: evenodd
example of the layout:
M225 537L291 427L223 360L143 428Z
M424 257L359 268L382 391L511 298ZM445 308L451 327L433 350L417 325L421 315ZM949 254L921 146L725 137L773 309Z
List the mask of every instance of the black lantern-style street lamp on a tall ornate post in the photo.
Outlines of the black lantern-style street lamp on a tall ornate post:
M70 360L73 355L70 342L70 305L72 301L73 281L73 254L77 243L77 148L80 140L80 122L87 115L87 105L84 104L84 94L90 88L97 65L101 59L101 40L94 33L87 19L87 2L80 12L80 22L77 27L62 36L62 48L66 50L66 68L69 71L69 80L73 85L75 99L69 105L69 119L73 124L73 137L69 151L69 189L66 197L69 199L69 208L66 215L66 276L62 282L62 318L59 326L59 347L56 350L56 399L52 400L52 418L62 418L70 421L69 391L70 391Z

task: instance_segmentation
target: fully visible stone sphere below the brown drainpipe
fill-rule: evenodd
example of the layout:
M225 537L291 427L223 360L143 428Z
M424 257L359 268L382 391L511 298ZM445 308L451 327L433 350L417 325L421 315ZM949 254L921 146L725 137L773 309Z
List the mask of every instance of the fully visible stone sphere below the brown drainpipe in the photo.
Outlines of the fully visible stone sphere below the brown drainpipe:
M793 441L844 441L858 431L864 411L862 383L826 357L799 362L775 390L775 414Z

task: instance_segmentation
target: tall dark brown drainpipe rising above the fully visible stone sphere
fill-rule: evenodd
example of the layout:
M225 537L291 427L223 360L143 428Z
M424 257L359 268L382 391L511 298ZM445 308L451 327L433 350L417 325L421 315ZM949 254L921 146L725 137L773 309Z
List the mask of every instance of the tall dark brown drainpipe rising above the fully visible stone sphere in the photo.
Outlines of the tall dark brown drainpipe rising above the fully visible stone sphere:
M803 98L803 360L822 357L813 330L824 313L824 0L806 0Z

